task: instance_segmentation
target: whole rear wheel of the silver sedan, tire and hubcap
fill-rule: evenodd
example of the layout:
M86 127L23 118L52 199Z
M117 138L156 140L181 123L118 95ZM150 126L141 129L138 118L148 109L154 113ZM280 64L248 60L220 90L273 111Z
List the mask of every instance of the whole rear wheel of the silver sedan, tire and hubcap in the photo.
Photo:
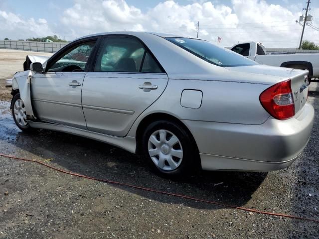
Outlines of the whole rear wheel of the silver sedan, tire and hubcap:
M151 123L144 132L142 143L145 157L161 175L186 176L199 169L195 141L176 122L159 120Z

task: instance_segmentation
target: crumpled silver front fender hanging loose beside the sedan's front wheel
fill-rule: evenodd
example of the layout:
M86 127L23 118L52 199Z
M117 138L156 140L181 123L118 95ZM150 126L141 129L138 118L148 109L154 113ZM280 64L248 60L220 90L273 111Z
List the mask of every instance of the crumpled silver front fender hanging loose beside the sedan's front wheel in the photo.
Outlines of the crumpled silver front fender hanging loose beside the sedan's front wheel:
M34 73L30 70L23 71L23 72L16 73L12 78L12 90L19 91L20 98L24 103L27 119L36 119L32 109L31 91L30 91L30 84L31 84L31 79L33 77L33 74ZM12 107L12 103L11 103L11 107Z

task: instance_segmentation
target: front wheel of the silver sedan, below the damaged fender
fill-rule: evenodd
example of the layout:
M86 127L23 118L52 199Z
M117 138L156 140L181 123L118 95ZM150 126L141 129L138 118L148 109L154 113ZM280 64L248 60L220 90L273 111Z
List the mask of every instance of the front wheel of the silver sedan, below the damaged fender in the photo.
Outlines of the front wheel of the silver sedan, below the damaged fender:
M12 98L11 111L12 111L12 117L14 119L14 122L19 129L26 132L30 132L34 130L33 128L31 128L31 126L27 122L25 106L23 101L20 98L19 93L14 95Z

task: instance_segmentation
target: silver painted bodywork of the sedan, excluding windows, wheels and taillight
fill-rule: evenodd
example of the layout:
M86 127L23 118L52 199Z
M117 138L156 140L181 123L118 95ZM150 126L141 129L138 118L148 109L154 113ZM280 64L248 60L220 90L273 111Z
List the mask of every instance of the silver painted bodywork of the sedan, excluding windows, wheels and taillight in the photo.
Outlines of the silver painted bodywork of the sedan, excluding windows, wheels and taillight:
M276 170L287 167L307 145L314 119L312 106L301 102L307 87L300 102L295 99L292 119L273 119L259 102L264 90L284 80L292 80L293 91L300 90L307 71L262 65L224 68L201 60L160 34L101 35L107 34L140 38L166 74L30 72L29 84L29 72L18 73L13 80L28 119L35 115L48 121L30 121L31 126L82 135L135 152L140 122L163 113L189 129L207 170ZM81 86L70 86L73 80ZM149 83L157 88L141 88ZM181 106L182 92L189 89L202 92L199 108ZM191 98L183 101L187 105L198 102L197 96Z

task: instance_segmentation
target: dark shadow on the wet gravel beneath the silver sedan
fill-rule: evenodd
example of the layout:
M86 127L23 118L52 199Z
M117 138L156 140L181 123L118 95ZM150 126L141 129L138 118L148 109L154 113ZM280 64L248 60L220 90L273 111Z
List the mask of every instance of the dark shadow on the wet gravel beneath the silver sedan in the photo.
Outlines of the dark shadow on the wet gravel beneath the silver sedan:
M18 132L15 140L9 141L20 149L19 152L31 153L35 158L49 160L50 164L75 173L235 206L245 205L267 176L260 172L201 171L172 180L153 172L142 156L79 136L40 130L35 134ZM162 203L220 208L117 184L112 186Z

